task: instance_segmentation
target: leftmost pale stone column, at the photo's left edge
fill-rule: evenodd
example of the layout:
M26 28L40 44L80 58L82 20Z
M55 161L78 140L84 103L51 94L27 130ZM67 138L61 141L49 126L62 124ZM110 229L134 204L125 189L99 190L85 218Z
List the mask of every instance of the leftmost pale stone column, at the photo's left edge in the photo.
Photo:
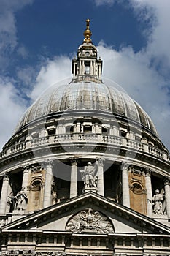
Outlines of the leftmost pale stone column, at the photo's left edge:
M1 188L1 200L0 200L0 214L6 214L7 199L9 189L9 175L6 173L3 177L3 184Z

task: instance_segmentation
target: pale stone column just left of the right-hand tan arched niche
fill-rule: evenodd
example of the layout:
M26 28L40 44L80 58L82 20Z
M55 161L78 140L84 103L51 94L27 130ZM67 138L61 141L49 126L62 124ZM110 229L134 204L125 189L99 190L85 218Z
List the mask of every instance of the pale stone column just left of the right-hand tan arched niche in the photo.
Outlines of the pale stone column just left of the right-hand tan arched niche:
M123 192L123 206L130 207L130 195L128 184L128 163L123 162L121 165L122 170L122 192Z

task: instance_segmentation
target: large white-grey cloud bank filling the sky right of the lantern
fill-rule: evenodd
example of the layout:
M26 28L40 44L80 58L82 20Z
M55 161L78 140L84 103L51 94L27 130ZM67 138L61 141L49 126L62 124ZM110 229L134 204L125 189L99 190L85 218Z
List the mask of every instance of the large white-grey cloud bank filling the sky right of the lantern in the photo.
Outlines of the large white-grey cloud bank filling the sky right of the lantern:
M123 4L123 0L115 1ZM109 4L107 1L95 2L96 5ZM170 148L170 1L128 0L128 3L133 7L136 19L147 24L141 31L147 46L134 53L132 47L115 51L100 45L104 75L120 83L142 105Z

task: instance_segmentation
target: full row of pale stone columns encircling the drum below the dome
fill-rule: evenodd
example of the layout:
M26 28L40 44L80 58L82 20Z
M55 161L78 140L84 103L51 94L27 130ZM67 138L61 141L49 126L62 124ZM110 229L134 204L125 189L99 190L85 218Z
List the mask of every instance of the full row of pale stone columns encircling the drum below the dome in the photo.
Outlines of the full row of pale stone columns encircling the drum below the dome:
M104 162L102 159L98 159L98 181L97 181L97 190L96 192L99 195L104 196ZM128 172L130 170L128 163L123 162L121 164L122 172L122 193L123 193L123 205L130 208L130 191L129 191L129 180ZM43 208L48 207L52 204L52 184L53 184L53 162L45 162L45 184L44 184L44 197L43 197ZM71 176L70 176L70 195L69 197L77 196L77 159L71 159ZM145 169L145 187L147 195L147 215L152 217L152 171L150 169ZM28 176L29 170L26 167L23 170L23 181L22 187L28 186ZM1 200L0 200L0 214L7 214L7 203L9 200L9 174L5 173L2 176L2 187L1 187ZM164 191L165 191L165 203L166 203L166 214L170 219L170 187L169 187L169 178L164 179ZM90 189L88 189L90 190ZM91 189L93 190L93 189Z

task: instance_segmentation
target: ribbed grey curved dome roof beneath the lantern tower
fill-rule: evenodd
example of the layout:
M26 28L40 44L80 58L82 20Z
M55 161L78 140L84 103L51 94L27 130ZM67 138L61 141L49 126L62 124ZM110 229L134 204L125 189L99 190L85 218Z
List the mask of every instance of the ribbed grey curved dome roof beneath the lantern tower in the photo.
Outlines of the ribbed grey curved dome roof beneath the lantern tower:
M60 83L60 85L56 83L49 87L26 110L15 132L49 113L69 110L101 110L105 113L117 114L139 122L157 135L150 117L125 91L117 89L116 86L108 86L106 83L96 83L93 80L72 81Z

